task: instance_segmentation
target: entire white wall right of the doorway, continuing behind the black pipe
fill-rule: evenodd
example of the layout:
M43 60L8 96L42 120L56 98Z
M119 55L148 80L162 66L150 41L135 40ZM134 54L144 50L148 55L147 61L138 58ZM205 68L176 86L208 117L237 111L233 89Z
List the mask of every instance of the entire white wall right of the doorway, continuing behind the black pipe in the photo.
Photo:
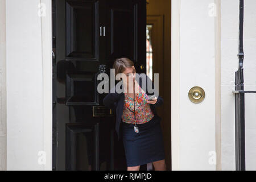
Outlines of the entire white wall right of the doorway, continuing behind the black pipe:
M208 5L213 2L217 10L215 25L213 17L208 16ZM245 90L256 90L255 7L256 1L245 1ZM232 90L238 69L238 8L239 0L172 1L172 168L175 170L235 169ZM206 94L198 105L192 104L187 96L195 85L201 86ZM245 95L247 170L256 170L255 110L256 94L248 93ZM215 167L208 163L210 150L217 152Z

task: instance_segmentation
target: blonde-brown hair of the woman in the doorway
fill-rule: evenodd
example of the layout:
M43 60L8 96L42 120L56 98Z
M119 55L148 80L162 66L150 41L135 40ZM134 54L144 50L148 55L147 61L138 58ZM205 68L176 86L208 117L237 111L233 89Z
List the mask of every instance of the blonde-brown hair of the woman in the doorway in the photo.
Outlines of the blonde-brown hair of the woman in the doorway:
M113 64L113 68L115 69L115 76L117 76L118 73L122 73L123 71L125 71L125 68L131 68L133 66L133 61L131 61L127 57L115 59Z

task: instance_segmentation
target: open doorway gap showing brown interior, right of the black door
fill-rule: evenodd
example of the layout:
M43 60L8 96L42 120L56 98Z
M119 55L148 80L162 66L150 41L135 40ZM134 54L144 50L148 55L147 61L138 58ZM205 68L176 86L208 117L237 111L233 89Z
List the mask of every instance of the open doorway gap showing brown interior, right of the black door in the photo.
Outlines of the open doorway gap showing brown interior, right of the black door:
M147 75L154 81L159 73L159 95L164 104L157 108L162 118L166 168L171 170L171 0L147 1Z

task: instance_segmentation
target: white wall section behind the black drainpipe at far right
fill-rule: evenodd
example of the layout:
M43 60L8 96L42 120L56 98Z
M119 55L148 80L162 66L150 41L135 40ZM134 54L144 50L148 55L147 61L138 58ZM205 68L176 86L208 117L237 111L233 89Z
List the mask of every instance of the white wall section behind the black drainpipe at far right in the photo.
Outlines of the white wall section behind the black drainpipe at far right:
M256 1L246 0L243 48L245 90L256 90ZM239 1L221 1L221 140L222 170L235 167L234 72L238 69ZM256 170L256 94L245 94L246 169Z

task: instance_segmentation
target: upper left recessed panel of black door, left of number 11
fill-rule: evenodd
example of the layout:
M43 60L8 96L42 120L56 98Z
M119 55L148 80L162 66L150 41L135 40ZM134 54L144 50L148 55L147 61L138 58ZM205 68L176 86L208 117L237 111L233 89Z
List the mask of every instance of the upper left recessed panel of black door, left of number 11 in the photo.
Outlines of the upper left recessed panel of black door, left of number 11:
M99 61L98 1L66 1L66 56Z

